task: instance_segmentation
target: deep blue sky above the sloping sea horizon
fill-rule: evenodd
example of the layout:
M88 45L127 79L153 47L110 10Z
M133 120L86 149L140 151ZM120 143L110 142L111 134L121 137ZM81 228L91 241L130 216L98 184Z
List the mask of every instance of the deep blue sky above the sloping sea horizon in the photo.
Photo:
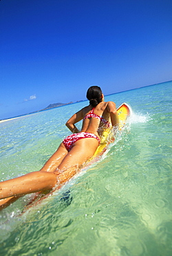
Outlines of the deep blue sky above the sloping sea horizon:
M172 80L171 0L1 0L0 119Z

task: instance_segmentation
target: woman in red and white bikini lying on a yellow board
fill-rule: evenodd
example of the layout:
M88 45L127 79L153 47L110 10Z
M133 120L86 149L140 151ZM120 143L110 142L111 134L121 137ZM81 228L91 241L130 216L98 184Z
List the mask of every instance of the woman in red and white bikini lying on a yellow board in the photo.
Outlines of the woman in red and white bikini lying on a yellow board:
M100 143L98 128L118 125L118 113L114 102L104 102L98 86L87 91L89 105L75 113L66 125L74 134L67 136L40 171L0 183L1 208L5 208L20 196L39 191L50 191L68 181L91 158ZM79 132L75 124L83 119Z

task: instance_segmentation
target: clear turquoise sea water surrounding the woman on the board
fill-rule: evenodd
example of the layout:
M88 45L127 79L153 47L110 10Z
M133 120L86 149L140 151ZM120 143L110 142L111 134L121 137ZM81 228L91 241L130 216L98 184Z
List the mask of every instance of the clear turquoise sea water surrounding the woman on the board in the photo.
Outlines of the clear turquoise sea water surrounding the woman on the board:
M171 255L172 82L108 95L133 109L109 151L23 215L0 212L1 255ZM1 180L41 169L87 102L0 123ZM80 126L80 125L79 125Z

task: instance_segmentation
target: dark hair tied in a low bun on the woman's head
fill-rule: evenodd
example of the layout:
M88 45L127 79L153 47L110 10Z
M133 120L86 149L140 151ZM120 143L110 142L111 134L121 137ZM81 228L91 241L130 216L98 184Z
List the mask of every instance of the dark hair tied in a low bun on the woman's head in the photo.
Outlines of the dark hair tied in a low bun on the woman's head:
M96 107L98 103L102 102L102 90L99 86L91 86L87 91L87 99L92 107Z

